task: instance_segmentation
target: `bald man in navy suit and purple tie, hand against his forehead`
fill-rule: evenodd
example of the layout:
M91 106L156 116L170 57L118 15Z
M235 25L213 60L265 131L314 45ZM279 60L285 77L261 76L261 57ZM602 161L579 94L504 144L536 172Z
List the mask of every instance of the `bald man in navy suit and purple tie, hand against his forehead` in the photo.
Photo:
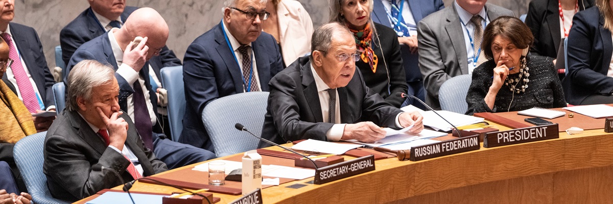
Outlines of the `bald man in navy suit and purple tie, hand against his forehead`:
M158 12L151 8L135 10L121 28L113 28L83 43L70 58L66 74L70 77L70 69L84 59L113 66L120 85L121 110L132 118L145 146L154 149L156 156L170 168L176 168L213 159L215 155L204 149L172 142L161 134L161 125L154 109L157 107L156 94L151 87L148 77L150 69L147 67L150 59L159 55L168 35L166 21ZM144 37L135 47L132 42L134 36Z

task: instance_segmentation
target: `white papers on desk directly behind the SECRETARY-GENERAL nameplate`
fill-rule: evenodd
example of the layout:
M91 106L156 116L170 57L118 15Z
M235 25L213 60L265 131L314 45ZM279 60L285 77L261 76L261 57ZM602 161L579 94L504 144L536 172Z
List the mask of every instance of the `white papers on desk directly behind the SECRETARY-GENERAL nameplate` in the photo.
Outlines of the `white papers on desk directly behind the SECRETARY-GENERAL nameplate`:
M326 154L345 154L346 151L359 148L362 145L339 144L332 142L324 142L320 140L308 139L292 146L294 150L312 151Z

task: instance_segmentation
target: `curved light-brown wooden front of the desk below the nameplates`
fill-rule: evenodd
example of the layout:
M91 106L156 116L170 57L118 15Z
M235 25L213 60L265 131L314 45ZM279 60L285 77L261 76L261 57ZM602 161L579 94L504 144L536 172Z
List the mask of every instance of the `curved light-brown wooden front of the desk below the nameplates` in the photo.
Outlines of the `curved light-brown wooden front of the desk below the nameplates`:
M375 164L373 172L332 183L286 187L313 180L308 178L263 189L264 203L613 203L613 134L603 129L418 162L390 158ZM137 183L131 191L177 190ZM238 198L215 197L221 197L219 203Z

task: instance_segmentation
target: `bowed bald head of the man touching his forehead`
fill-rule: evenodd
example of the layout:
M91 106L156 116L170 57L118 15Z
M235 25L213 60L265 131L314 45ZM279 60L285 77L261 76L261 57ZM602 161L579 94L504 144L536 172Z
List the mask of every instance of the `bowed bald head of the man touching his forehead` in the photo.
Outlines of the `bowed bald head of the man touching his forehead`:
M114 35L122 48L125 48L136 36L148 37L147 59L150 59L166 45L169 29L164 18L156 10L145 7L132 12L120 31Z

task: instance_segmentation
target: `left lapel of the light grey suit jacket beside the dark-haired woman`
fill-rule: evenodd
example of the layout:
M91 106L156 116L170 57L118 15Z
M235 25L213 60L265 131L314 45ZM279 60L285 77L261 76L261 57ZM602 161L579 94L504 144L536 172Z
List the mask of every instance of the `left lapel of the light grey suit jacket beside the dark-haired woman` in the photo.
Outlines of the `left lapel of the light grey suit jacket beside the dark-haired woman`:
M466 44L463 34L465 31L462 29L462 25L460 25L460 17L458 16L457 10L455 10L455 6L451 7L453 7L454 12L447 16L445 30L447 31L452 47L454 47L455 56L460 66L460 72L462 72L462 74L468 74L468 64L466 63L468 54L466 54Z

